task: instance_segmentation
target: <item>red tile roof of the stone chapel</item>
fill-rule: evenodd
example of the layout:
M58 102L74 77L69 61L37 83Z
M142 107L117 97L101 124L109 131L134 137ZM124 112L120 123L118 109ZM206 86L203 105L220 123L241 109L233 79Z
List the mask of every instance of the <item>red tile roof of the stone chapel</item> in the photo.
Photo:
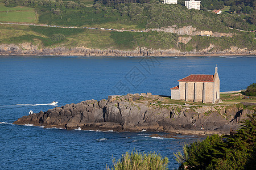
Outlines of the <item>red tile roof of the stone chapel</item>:
M191 74L178 80L178 82L213 82L213 76L214 75Z

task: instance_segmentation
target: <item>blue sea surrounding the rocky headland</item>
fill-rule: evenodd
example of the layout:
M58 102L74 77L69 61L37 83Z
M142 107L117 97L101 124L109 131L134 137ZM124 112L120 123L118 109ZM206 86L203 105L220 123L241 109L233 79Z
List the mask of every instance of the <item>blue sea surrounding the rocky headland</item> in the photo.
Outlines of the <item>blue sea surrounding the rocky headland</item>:
M179 164L174 152L204 139L151 138L148 131L116 133L44 129L13 125L19 117L108 95L151 92L171 95L177 80L190 74L214 74L220 91L246 89L256 81L256 56L191 57L0 57L0 169L105 169L127 151L158 152ZM158 133L164 134L164 133Z

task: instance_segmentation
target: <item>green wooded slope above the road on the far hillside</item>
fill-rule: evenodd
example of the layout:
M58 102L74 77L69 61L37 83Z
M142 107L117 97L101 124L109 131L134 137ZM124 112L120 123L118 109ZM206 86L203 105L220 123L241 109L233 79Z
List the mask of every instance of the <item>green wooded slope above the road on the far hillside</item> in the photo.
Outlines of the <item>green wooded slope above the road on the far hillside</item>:
M227 27L243 30L255 29L255 10L251 3L244 2L241 11L248 11L244 19L239 15L216 15L210 11L188 10L182 5L164 5L160 1L96 1L85 6L82 0L44 1L7 0L11 4L38 8L39 22L45 24L82 26L118 23L136 25L137 28L160 28L177 25L192 25L201 30L229 32ZM201 1L210 8L223 6L223 1ZM224 2L225 3L225 2ZM245 4L247 6L245 6ZM105 6L104 6L105 5ZM205 5L206 6L206 5ZM220 7L217 7L220 8ZM182 46L181 46L182 48Z

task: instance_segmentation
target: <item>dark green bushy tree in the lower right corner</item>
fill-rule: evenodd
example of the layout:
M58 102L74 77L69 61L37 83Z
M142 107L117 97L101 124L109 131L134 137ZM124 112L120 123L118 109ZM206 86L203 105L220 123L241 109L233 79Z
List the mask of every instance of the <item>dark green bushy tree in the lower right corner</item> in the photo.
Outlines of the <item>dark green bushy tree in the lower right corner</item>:
M255 107L254 107L255 111ZM212 135L185 145L175 153L180 169L254 169L256 162L256 114L248 115L241 129L230 135Z

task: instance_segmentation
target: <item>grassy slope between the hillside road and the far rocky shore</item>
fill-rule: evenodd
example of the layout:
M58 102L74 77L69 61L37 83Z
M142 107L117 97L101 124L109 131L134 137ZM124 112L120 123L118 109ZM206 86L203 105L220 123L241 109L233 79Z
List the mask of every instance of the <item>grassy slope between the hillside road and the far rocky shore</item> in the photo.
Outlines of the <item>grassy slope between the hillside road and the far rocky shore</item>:
M146 49L177 49L191 51L203 50L210 44L212 50L230 49L230 46L255 50L256 42L254 33L242 32L234 37L204 37L192 36L188 44L178 42L180 36L175 33L165 32L117 32L100 31L96 29L54 28L28 25L1 25L0 44L20 44L31 42L40 47L48 46L86 46L98 49L131 50ZM52 39L53 35L61 34L63 39Z

